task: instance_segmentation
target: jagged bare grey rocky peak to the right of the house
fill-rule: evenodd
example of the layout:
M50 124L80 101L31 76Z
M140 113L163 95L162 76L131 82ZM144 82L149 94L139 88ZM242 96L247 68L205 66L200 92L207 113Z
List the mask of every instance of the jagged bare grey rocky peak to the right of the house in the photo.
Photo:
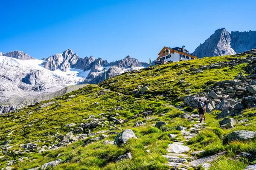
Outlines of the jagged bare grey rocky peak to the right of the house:
M192 53L199 58L224 56L249 51L256 48L256 31L239 32L231 34L221 28L215 31L203 44Z

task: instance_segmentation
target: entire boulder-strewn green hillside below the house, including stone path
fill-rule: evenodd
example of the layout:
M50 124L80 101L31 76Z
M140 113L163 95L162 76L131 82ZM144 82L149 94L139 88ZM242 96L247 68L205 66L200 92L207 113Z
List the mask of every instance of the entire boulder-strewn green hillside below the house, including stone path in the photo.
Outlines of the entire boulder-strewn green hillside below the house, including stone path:
M255 63L252 50L152 66L1 115L0 168L252 169Z

